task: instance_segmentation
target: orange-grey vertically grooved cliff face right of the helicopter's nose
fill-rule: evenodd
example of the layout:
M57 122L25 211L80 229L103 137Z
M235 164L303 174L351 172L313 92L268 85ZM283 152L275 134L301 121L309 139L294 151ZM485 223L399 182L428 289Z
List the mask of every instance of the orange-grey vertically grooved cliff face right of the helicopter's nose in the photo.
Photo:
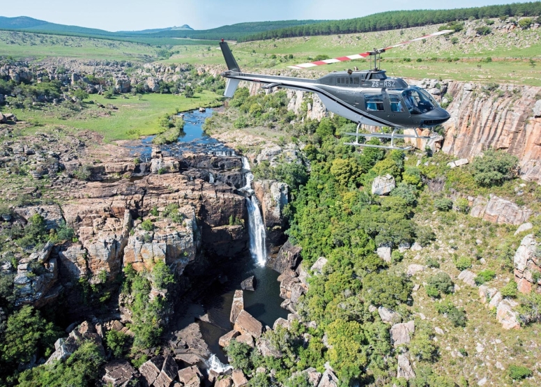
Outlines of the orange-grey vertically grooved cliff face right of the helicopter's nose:
M517 155L523 179L541 183L541 112L534 112L541 87L449 82L447 93L453 99L442 151L472 158L503 149Z

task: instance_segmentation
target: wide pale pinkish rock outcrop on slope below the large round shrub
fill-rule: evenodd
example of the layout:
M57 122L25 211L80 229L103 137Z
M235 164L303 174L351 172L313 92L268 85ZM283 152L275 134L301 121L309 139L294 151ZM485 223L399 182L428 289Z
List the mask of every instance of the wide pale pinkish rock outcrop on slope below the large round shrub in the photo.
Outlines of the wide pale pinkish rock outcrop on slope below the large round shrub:
M473 201L470 215L473 218L482 218L493 223L507 223L509 225L521 225L526 222L532 211L526 207L517 206L509 200L496 195L490 195L490 199L477 197Z

